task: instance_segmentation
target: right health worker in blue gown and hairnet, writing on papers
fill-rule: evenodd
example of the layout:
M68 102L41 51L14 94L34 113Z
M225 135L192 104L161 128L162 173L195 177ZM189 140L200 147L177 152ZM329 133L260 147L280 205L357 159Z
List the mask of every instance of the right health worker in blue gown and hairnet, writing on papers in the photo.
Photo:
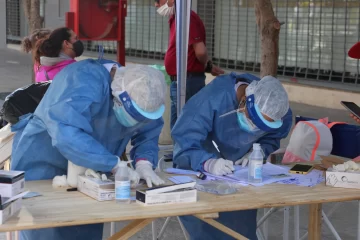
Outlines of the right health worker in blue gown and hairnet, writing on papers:
M291 125L288 95L278 79L222 75L185 104L171 133L174 164L215 175L230 174L253 143L261 144L265 159L276 151ZM257 239L256 212L224 212L217 220L253 240ZM193 240L233 239L195 217L181 217L181 221Z

